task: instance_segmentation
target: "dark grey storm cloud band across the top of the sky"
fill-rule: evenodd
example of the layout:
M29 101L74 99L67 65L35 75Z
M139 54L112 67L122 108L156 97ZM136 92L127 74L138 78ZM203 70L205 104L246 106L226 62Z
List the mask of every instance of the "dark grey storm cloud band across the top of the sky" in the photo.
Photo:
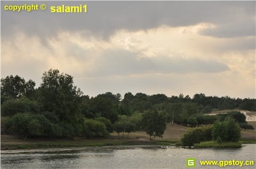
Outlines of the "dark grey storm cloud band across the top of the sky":
M255 36L255 1L248 2L10 2L6 4L46 4L46 11L11 12L1 10L2 36L24 31L42 39L59 31L89 30L107 39L119 29L147 30L162 25L170 27L212 23L217 27L203 30L214 37ZM51 13L50 6L87 4L86 14ZM239 17L237 17L239 15Z

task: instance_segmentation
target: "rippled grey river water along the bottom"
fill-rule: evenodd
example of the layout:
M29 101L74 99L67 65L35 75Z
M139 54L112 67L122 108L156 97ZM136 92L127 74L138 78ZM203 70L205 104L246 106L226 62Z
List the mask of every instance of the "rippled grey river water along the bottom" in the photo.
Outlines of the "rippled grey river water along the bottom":
M1 154L1 168L187 168L186 158L199 160L254 160L254 166L226 168L256 168L255 144L239 149L184 148L91 148L81 150L45 151ZM191 167L193 168L193 167Z

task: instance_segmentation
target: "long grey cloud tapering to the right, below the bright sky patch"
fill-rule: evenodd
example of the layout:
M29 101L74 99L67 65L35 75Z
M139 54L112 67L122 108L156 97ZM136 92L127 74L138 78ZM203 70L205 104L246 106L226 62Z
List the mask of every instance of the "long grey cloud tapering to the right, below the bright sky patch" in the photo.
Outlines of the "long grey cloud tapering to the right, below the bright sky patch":
M230 70L214 60L182 57L140 57L124 50L106 51L93 67L93 76L131 75L143 73L216 73Z

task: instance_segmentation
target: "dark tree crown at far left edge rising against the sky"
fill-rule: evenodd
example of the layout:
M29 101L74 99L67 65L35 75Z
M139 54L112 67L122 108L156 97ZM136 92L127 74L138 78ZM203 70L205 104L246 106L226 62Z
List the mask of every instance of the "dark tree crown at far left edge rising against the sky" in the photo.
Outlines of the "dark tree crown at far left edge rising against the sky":
M1 79L1 95L17 99L21 95L29 95L34 91L36 83L33 80L25 81L18 75L7 76Z

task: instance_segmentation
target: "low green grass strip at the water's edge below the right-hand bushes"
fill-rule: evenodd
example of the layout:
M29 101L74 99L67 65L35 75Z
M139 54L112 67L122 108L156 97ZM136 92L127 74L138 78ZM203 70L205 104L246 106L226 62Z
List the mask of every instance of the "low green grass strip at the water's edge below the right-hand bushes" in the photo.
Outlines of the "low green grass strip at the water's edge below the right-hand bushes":
M222 142L217 143L215 141L204 141L196 143L195 148L241 148L241 142Z

